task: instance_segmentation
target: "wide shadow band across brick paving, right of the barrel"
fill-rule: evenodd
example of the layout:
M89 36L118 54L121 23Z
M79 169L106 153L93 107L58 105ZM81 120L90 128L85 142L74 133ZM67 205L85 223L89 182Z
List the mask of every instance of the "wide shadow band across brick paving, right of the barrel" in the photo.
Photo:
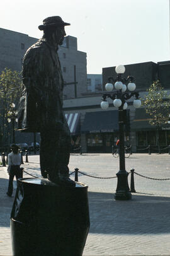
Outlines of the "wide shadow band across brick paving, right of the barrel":
M170 233L170 197L132 195L132 201L115 201L113 194L89 192L90 233Z

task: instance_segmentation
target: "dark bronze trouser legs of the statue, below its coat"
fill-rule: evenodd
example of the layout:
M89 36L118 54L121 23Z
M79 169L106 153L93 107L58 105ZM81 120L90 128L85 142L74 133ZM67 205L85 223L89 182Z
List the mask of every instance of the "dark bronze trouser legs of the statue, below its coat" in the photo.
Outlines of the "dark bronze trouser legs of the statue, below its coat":
M46 129L40 132L40 167L42 176L47 178L57 175L69 176L69 158L71 149L71 136L67 132Z

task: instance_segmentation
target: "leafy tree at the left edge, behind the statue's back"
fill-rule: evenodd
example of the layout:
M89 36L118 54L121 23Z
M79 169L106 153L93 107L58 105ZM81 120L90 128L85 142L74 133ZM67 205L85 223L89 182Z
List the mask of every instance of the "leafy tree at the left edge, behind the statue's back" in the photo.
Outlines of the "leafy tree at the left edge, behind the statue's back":
M8 123L8 112L11 103L18 105L21 96L21 73L7 67L0 75L0 144L9 143L11 125Z

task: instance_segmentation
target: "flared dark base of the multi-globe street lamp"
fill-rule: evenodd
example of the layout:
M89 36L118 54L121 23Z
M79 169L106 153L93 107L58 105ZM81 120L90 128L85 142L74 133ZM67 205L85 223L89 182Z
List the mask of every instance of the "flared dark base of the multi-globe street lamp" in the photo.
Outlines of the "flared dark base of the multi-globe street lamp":
M115 193L115 200L130 200L132 199L132 194L128 187L128 172L119 171L116 173L118 177L118 184Z

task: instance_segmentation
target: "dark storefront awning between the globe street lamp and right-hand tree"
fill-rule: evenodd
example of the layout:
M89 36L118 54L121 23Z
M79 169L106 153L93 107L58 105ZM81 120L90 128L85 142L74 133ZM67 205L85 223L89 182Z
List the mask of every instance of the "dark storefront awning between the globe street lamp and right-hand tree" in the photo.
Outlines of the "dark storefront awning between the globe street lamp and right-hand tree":
M136 108L135 119L131 124L131 131L150 131L155 130L154 125L149 124L150 116L145 112L145 108Z

